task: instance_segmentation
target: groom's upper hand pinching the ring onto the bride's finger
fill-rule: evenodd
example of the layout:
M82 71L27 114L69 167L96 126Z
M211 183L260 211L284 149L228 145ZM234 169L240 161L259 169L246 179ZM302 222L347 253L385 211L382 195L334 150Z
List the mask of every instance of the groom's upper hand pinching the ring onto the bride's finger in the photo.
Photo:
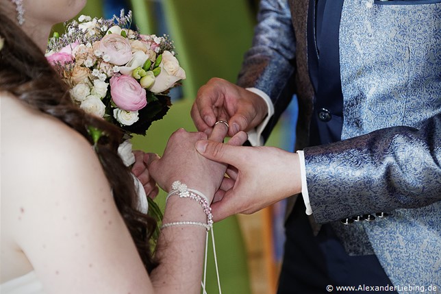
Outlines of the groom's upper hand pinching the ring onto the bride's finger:
M197 130L205 134L210 134L216 121L225 118L232 137L259 125L267 112L266 103L255 93L225 79L212 78L199 89L191 116Z

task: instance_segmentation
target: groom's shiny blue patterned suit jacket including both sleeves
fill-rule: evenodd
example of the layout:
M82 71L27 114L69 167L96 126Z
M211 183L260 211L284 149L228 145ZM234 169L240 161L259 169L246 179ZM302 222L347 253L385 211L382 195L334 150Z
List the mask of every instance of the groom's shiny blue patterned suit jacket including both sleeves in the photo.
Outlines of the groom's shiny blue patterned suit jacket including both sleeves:
M238 84L275 106L292 95L296 149L305 152L317 223L350 254L375 253L395 285L441 289L441 0L345 0L340 18L342 140L309 147L314 88L308 72L309 0L262 0ZM346 217L389 212L342 225Z

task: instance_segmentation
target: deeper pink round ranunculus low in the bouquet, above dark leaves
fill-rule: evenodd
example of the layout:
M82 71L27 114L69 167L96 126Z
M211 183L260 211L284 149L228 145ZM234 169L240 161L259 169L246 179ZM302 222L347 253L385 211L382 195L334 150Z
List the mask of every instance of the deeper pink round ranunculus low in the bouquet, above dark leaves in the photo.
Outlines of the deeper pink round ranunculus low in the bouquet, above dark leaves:
M126 111L136 111L147 105L145 89L129 75L114 75L110 79L112 101Z

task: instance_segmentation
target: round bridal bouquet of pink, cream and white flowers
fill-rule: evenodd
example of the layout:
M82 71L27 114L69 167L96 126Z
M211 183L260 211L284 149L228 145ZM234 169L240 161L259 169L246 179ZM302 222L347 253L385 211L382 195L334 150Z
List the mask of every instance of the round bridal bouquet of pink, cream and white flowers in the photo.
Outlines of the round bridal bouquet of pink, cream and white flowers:
M81 15L49 39L47 60L88 113L145 135L171 106L168 91L186 78L168 36L130 29L131 12L112 19Z

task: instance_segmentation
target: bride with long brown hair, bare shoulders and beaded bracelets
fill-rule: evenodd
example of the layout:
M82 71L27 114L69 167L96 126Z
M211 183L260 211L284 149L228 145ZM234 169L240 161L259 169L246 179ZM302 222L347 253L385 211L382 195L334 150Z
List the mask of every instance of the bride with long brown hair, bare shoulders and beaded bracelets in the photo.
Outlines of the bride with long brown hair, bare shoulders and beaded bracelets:
M153 256L155 221L136 210L117 154L121 132L74 106L44 56L52 25L85 0L0 3L1 293L199 293L211 217L201 204L211 203L226 170L194 149L207 136L178 130L162 158L144 158L164 191L177 189ZM95 150L88 127L107 134ZM220 123L210 139L226 132ZM240 133L229 143L244 140ZM155 194L142 156L136 167Z

